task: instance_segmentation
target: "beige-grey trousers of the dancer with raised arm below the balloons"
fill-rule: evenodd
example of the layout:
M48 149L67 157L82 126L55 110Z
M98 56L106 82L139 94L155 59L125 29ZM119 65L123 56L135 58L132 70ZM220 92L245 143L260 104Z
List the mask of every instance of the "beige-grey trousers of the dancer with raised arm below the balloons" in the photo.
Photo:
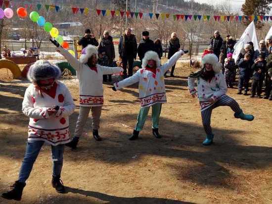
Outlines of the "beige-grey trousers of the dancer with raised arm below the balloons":
M92 129L93 130L99 129L102 106L94 106L94 107L80 106L79 107L79 117L78 117L77 126L75 129L74 136L80 137L82 135L83 128L84 128L86 121L88 119L90 110L91 110L91 118L92 118L92 124L91 124Z

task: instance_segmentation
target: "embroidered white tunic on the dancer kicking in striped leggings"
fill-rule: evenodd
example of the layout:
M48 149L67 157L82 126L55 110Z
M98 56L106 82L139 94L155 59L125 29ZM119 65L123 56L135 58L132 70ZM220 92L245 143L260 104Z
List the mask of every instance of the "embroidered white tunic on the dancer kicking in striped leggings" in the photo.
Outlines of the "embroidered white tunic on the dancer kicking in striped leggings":
M197 80L197 91L194 88L195 80ZM197 92L201 111L213 105L227 93L227 84L222 72L216 73L210 82L201 77L188 77L188 87L190 94ZM210 98L214 98L215 102L209 102Z

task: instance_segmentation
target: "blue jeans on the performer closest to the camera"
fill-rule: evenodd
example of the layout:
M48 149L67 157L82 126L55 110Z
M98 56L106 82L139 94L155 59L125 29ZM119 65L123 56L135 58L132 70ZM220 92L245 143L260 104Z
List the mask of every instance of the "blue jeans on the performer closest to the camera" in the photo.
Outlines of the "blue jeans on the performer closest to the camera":
M42 146L44 145L44 141L34 141L34 142L27 142L26 145L26 153L24 155L24 160L20 169L19 173L19 182L25 183L28 179L33 164L38 157ZM64 145L51 145L51 157L53 162L53 176L60 176L62 162L63 162L63 152L64 152Z

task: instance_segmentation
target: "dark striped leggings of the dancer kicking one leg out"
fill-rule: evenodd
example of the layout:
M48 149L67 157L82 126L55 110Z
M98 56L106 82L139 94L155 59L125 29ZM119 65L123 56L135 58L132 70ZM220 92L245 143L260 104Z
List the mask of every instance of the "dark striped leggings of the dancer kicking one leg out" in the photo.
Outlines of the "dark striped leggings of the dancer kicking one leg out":
M232 99L231 97L227 95L223 96L220 100L215 102L213 105L201 111L202 124L207 135L213 134L212 127L211 127L211 116L212 116L213 109L218 106L229 106L234 112L236 113L241 112L241 108L239 104L234 99Z

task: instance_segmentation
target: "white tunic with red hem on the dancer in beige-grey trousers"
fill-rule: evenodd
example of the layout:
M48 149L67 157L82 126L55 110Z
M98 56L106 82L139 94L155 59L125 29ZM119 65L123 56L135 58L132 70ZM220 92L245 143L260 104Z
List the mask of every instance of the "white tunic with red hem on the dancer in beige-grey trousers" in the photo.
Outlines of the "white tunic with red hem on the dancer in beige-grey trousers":
M73 68L77 70L79 79L80 106L102 106L103 98L103 75L114 74L123 71L121 67L107 67L96 64L96 69L87 64L80 63L68 51L59 47L56 49L67 59Z

